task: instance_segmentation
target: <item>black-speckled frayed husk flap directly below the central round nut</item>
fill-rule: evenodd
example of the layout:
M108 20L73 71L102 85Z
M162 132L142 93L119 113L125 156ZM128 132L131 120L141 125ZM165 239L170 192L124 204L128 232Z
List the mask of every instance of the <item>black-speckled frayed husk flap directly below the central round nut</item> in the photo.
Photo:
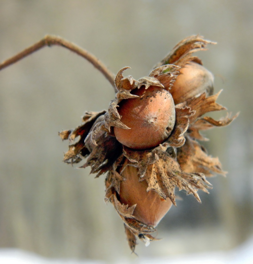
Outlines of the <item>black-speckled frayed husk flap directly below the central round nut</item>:
M207 192L210 184L204 175L199 173L185 173L181 171L179 164L163 146L153 150L135 151L124 147L124 156L128 159L126 163L138 167L141 180L148 183L147 191L156 191L163 199L167 197L176 205L174 195L175 186L185 189L187 194L193 194L200 202L197 194L198 189Z

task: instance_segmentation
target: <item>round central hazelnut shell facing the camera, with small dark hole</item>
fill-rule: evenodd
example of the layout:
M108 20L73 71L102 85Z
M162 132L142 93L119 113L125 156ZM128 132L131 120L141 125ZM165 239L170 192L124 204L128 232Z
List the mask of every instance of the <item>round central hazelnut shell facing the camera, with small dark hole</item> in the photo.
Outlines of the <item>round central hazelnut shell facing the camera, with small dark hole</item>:
M120 121L131 129L114 127L117 140L133 149L158 146L171 134L175 124L175 106L171 94L158 86L132 91L138 98L122 100Z

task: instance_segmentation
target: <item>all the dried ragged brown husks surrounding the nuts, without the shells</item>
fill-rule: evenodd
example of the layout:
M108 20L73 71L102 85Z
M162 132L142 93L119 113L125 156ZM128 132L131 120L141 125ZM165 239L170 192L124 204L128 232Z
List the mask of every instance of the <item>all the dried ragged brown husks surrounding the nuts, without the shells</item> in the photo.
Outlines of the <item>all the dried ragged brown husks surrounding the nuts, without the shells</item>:
M97 177L107 173L105 201L110 201L122 218L129 247L133 252L137 238L146 245L149 241L156 240L151 233L156 231L157 223L145 224L141 221L135 212L137 206L141 205L121 202L123 199L120 189L122 183L127 181L127 176L135 173L138 180L146 186L147 194L154 192L159 199L169 199L174 205L175 187L185 190L187 194L193 194L200 202L197 191L200 189L208 193L208 189L211 188L206 177L225 172L222 171L218 158L209 156L197 141L206 140L199 131L228 125L238 114L218 121L211 117L203 117L211 111L225 110L225 107L216 103L219 93L208 96L203 91L202 94L197 94L175 106L176 121L168 139L152 149L133 150L123 146L114 136L114 127L129 129L121 122L117 108L122 100L138 97L131 93L136 88L145 86L145 89L149 89L150 86L158 86L170 91L180 67L184 67L190 61L202 65L201 60L193 56L193 53L205 50L207 44L214 42L204 40L200 36L182 40L154 67L149 76L139 80L131 76L123 77L122 73L129 67L121 69L115 78L117 93L108 111L86 112L80 126L59 133L63 140L70 141L80 136L79 141L70 144L64 155L64 162L79 163L88 157L82 168L90 166L91 173L97 173ZM148 207L147 214L149 210L154 213L154 208Z

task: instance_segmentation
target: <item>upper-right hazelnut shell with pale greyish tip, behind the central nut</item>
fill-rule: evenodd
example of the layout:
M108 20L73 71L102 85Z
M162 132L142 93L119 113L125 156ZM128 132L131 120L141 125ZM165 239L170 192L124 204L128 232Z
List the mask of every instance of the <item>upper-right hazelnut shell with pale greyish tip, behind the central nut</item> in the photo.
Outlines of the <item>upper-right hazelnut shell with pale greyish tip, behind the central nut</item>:
M202 65L190 61L180 69L176 81L170 89L175 104L184 102L198 94L213 94L213 74ZM161 83L163 83L161 81Z

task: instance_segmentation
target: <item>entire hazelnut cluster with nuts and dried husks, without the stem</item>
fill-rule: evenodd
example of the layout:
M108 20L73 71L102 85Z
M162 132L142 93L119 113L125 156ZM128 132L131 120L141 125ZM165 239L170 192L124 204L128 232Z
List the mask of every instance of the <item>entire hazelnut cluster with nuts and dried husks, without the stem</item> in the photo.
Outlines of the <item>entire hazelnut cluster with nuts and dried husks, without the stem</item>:
M191 36L179 42L149 76L116 78L116 97L109 109L85 112L80 126L59 133L70 144L64 162L90 166L99 177L107 173L105 201L124 222L129 247L139 238L155 240L155 227L176 205L174 189L184 189L200 202L208 193L206 177L224 174L218 158L209 156L199 131L228 125L236 116L214 120L204 114L224 110L213 95L213 75L193 56L213 42Z

